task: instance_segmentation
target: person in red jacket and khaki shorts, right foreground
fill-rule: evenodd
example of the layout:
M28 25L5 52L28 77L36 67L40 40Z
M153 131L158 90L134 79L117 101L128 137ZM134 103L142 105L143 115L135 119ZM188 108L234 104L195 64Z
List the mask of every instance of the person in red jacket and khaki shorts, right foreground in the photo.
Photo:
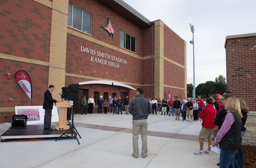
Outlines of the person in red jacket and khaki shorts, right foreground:
M216 115L216 111L212 105L212 99L210 97L206 98L206 107L199 114L199 118L203 118L202 128L198 135L200 150L195 152L195 155L203 155L203 153L207 155L211 155L211 140L213 136L213 131L216 125L214 125L214 118ZM203 151L203 140L208 139L208 150Z

